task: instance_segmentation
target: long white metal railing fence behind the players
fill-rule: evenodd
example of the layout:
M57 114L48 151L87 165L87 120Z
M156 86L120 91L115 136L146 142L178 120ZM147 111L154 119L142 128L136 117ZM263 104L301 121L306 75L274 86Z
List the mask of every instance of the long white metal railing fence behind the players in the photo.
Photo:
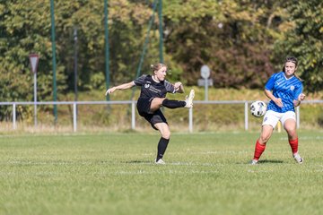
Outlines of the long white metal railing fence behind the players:
M244 126L245 130L249 129L249 104L251 104L253 100L195 100L194 104L202 104L202 105L234 105L234 104L244 104ZM302 101L305 104L315 104L320 103L323 104L323 100L305 100ZM73 105L73 130L77 132L77 106L81 105L130 105L131 104L131 128L135 129L135 100L124 100L124 101L39 101L39 102L0 102L0 106L13 106L13 130L17 128L16 126L16 107L17 105L35 106L35 126L37 125L37 106L41 105ZM193 108L190 108L188 111L188 131L190 133L193 132ZM296 119L297 119L297 127L300 127L300 107L296 107Z

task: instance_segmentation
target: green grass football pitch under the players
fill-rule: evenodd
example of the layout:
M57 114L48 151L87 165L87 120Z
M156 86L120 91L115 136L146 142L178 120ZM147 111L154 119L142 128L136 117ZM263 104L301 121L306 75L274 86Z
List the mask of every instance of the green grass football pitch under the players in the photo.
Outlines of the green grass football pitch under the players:
M257 166L258 133L0 136L0 214L323 214L323 133L300 131L304 164L274 133Z

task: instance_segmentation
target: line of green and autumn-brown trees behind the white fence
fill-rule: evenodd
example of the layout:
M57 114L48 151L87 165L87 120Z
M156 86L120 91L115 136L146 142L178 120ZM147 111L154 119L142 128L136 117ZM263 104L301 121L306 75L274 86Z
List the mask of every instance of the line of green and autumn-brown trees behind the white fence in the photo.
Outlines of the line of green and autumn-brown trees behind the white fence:
M109 0L110 84L135 78L153 0ZM163 56L170 80L196 85L207 64L216 88L263 88L285 56L300 60L308 91L323 88L321 0L163 0ZM159 61L159 18L154 13L142 73ZM74 91L74 30L78 32L79 90L105 89L103 1L55 1L57 98ZM50 4L0 1L0 99L31 101L30 53L38 53L38 99L52 100ZM3 107L1 107L2 110ZM4 111L2 111L4 112ZM4 114L4 113L2 113Z

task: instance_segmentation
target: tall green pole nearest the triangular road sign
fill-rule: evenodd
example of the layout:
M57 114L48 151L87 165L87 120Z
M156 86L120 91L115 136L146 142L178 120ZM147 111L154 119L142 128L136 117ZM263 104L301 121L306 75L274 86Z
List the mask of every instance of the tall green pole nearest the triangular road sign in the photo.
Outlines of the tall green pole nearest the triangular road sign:
M54 16L54 0L50 0L51 14L51 38L52 38L52 60L53 60L53 100L57 101L57 80L56 80L56 45L55 45L55 16ZM54 124L57 124L57 105L54 105Z

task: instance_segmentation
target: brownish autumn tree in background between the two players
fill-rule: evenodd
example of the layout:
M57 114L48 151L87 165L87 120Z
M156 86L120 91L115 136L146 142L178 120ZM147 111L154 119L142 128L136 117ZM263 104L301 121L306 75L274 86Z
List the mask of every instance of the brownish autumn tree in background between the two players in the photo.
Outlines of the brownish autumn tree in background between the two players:
M272 44L282 1L169 1L166 49L196 84L202 64L216 87L260 88L273 73Z

